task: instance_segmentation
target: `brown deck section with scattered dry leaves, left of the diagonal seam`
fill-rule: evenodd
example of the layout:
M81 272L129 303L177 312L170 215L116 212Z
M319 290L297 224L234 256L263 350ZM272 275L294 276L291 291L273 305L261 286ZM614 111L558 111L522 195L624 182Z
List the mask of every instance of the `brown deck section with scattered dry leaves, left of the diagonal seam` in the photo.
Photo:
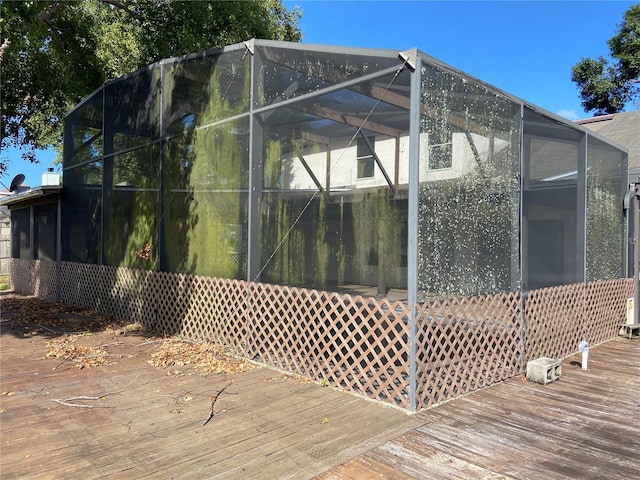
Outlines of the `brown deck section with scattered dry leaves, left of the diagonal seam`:
M304 479L421 423L267 368L206 377L182 368L182 375L169 375L173 368L147 363L154 345L136 335L87 335L96 345L115 344L111 365L61 365L43 358L55 335L12 322L1 323L2 480ZM203 427L211 397L232 379ZM77 396L104 397L68 402L96 408L53 401Z

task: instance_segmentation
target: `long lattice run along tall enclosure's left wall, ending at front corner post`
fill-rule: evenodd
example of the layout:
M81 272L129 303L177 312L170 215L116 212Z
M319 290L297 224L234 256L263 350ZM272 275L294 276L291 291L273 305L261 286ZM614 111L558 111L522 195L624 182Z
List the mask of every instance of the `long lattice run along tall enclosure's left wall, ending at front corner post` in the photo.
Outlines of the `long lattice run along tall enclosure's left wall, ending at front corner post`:
M65 301L408 406L401 302L175 273L70 264Z

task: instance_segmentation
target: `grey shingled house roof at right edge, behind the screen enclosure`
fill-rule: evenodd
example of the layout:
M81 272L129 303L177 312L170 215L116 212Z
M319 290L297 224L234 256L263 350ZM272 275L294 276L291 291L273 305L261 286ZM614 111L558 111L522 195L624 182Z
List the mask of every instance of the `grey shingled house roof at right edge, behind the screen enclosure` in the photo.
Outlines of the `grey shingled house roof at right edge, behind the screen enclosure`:
M629 150L629 182L637 183L640 177L640 110L585 118L576 123Z

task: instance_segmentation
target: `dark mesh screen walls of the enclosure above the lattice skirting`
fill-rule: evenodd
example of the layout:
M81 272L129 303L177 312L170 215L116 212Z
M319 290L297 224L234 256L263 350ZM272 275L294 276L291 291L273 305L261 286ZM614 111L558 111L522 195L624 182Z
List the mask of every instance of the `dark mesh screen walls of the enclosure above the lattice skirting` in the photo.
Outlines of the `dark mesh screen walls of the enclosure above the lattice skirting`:
M624 275L625 152L415 50L165 60L65 141L69 261L412 299Z

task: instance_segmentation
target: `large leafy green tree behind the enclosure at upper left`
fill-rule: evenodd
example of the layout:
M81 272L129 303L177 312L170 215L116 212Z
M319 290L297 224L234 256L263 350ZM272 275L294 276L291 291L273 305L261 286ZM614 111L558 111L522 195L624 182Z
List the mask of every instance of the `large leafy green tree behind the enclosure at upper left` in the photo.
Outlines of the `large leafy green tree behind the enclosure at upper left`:
M2 1L2 147L60 147L65 113L105 81L250 38L300 41L281 0ZM0 161L0 174L6 165Z

